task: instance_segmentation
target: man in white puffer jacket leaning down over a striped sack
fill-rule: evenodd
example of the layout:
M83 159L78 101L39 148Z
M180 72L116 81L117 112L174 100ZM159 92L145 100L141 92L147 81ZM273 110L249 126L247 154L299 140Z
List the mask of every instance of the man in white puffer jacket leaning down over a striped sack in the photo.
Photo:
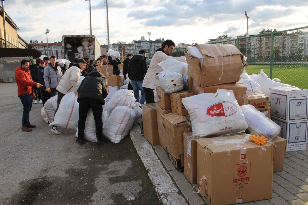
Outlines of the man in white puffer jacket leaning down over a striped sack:
M75 95L77 95L77 89L78 89L78 81L79 77L82 73L82 71L86 68L87 61L83 59L79 59L77 61L77 64L74 64L71 66L69 69L67 69L64 73L64 75L61 78L61 81L59 82L59 85L57 86L57 91L58 91L58 101L57 101L57 109L55 111L58 111L59 104L67 93L70 93L71 91L75 92ZM57 126L52 126L51 132L57 134L57 135L62 135L63 132L57 128Z

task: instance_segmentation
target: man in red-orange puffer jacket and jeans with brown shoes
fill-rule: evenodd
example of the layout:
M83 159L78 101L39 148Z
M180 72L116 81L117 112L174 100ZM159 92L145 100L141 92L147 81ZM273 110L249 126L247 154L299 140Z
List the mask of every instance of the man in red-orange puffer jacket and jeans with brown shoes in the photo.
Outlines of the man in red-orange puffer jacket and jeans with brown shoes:
M22 60L21 66L15 69L15 81L17 83L17 95L23 105L22 112L22 131L30 132L35 125L30 124L29 112L32 108L32 101L35 99L33 87L41 87L42 84L32 81L30 75L30 61Z

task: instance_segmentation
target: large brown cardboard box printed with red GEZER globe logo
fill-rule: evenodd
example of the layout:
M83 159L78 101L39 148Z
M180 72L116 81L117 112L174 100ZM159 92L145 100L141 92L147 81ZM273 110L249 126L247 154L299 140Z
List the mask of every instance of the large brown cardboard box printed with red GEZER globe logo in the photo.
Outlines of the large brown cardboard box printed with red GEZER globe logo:
M197 179L200 194L211 205L272 198L273 144L237 144L245 135L197 140ZM217 140L232 140L214 144ZM265 149L264 149L265 148Z

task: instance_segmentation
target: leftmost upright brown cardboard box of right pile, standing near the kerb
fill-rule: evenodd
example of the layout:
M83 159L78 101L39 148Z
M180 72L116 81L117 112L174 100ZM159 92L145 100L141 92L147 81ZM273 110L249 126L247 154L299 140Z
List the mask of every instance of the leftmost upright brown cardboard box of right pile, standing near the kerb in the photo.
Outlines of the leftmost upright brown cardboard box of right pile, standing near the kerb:
M159 145L157 115L157 103L142 104L142 123L144 137L153 145Z

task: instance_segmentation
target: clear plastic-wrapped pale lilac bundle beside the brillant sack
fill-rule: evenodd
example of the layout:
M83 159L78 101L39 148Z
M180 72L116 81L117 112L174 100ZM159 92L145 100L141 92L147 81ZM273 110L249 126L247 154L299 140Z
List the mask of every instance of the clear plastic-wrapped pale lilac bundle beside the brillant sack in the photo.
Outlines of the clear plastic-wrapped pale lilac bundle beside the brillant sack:
M245 104L241 106L245 120L248 124L248 132L256 132L259 136L265 136L268 141L271 141L280 132L280 127L272 120L265 116L265 113L260 112L254 106Z

